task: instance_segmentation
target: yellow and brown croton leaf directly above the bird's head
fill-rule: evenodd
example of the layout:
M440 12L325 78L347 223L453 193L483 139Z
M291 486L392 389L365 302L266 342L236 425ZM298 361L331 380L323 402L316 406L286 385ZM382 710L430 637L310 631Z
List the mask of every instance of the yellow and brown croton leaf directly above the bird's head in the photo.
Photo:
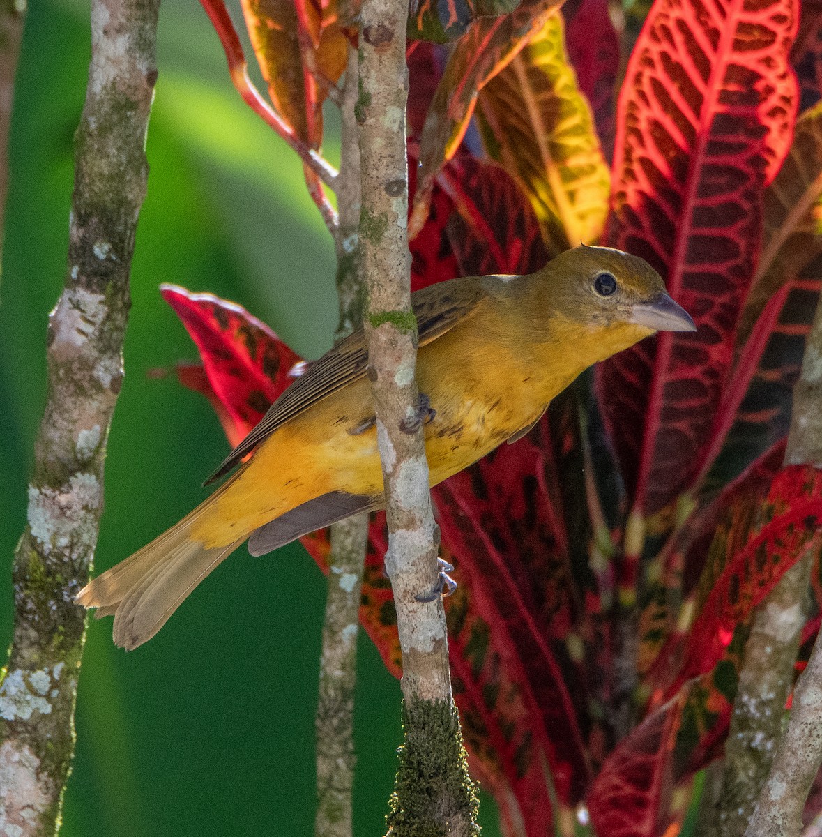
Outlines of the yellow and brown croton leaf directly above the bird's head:
M485 149L519 179L549 252L594 244L608 213L610 172L568 60L561 13L485 85L478 105Z

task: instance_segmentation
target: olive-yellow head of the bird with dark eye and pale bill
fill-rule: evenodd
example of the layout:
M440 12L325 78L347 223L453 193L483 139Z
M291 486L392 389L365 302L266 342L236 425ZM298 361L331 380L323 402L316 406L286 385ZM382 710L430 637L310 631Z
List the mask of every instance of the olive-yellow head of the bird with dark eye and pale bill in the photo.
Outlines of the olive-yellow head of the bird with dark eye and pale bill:
M609 332L626 345L655 331L696 331L687 311L665 292L660 275L638 256L582 245L543 270L552 310L588 331Z

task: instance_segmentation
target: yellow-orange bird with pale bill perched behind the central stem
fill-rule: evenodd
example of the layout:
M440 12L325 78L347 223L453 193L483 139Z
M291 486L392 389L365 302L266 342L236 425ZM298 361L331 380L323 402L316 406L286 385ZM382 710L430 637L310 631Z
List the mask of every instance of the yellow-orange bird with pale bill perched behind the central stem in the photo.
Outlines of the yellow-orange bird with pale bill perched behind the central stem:
M431 485L532 428L551 399L593 363L655 331L694 331L642 259L578 247L527 276L471 276L413 297L417 382ZM383 506L362 331L312 363L223 462L254 451L182 521L102 573L77 596L114 614L126 649L151 639L182 600L250 536L276 547Z

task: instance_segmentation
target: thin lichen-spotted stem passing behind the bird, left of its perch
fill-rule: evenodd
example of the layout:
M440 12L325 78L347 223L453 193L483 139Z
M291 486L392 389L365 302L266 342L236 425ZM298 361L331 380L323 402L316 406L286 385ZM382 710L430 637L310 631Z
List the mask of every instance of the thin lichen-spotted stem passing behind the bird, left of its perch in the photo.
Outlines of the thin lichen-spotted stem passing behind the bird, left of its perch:
M357 145L357 52L349 48L342 111L342 153L337 176L340 222L337 292L340 325L337 340L362 321L362 262L358 257L360 149ZM328 598L322 628L320 688L316 712L316 837L351 837L354 784L354 685L357 680L357 627L368 516L331 526Z

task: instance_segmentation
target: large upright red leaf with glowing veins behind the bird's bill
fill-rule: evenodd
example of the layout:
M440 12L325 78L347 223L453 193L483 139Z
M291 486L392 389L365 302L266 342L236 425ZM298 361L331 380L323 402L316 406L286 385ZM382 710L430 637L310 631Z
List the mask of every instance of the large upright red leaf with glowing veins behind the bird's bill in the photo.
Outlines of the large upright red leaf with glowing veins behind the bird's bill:
M598 385L634 508L691 485L732 362L763 187L789 150L796 0L659 0L619 97L607 240L643 256L698 331L602 364Z

